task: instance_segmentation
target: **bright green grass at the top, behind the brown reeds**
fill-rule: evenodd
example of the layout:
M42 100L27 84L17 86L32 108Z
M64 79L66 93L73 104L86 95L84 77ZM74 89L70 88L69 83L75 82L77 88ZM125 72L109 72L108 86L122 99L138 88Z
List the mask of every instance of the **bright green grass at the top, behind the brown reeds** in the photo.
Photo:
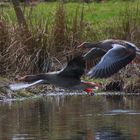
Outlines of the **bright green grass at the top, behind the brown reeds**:
M137 2L124 2L124 1L109 1L105 3L66 3L65 12L67 21L69 23L70 20L75 16L76 10L78 15L81 14L81 10L84 11L84 19L88 23L98 24L109 22L112 18L116 18L119 16L120 12L124 10L127 6L134 6ZM32 24L38 24L39 22L51 24L57 8L56 2L46 2L39 3L36 6L23 6L23 11L25 12L25 16L27 20L31 20ZM16 16L12 5L10 7L1 8L1 13L3 18L9 23L16 22Z

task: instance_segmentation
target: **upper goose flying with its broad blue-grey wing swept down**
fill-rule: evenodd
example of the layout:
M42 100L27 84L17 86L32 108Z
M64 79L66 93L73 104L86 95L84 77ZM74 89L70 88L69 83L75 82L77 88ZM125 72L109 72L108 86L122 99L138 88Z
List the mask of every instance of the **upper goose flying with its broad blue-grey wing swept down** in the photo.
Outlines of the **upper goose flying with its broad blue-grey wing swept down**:
M85 60L100 59L88 72L90 78L107 78L129 64L136 54L140 54L140 50L134 44L124 40L110 39L95 44L84 42L78 47L91 48L84 55Z

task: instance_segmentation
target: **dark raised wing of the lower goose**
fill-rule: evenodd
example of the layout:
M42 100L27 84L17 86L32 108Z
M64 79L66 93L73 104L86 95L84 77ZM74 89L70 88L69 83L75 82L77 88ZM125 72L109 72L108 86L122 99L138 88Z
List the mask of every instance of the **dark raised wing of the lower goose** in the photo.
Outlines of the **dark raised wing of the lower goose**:
M80 79L85 71L85 60L81 56L77 56L70 60L67 66L60 71L59 75L64 77L73 77Z

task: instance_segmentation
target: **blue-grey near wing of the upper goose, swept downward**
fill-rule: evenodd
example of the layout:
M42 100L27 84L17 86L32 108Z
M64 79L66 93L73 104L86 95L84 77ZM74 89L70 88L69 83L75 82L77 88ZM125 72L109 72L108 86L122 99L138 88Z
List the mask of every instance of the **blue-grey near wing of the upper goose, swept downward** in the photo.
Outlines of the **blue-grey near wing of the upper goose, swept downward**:
M114 47L88 72L88 76L90 78L107 78L125 67L135 56L135 50L129 51L122 45L114 44Z

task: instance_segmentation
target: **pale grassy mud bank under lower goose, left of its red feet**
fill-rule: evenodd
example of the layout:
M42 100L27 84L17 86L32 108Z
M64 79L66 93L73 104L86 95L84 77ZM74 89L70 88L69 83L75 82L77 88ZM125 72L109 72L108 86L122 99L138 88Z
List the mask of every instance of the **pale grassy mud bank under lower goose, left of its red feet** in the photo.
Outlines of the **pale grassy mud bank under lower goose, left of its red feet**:
M7 99L20 99L20 98L29 98L35 97L40 95L64 95L71 93L73 94L86 94L86 92L82 91L69 91L54 87L52 85L36 85L30 88L21 89L12 91L8 85L13 84L15 81L8 80L7 78L0 77L0 100L7 100Z

